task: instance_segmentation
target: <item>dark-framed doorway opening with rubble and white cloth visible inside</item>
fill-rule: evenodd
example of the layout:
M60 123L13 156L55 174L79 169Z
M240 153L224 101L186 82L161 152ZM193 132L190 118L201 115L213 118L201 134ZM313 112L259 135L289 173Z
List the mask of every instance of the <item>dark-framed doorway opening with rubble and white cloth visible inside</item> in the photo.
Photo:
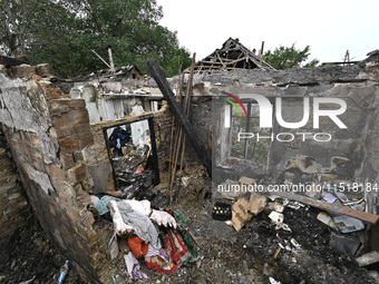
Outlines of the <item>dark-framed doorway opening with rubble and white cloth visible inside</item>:
M120 197L145 196L159 184L159 169L152 117L103 128L115 187Z

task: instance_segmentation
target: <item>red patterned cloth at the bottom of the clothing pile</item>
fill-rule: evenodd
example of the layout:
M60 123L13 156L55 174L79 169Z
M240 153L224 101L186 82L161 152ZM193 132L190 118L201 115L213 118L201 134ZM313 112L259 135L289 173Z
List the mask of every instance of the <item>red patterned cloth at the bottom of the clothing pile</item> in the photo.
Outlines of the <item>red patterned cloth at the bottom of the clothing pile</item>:
M181 257L187 253L187 247L179 233L173 229L168 229L164 236L164 245L168 262L159 255L154 255L145 257L145 263L147 267L155 268L159 273L173 274L182 265Z

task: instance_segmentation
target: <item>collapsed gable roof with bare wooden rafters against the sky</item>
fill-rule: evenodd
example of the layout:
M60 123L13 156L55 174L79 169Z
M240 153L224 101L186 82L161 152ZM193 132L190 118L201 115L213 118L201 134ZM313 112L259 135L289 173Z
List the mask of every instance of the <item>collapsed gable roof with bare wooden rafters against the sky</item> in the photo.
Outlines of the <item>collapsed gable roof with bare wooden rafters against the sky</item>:
M275 70L253 51L244 47L240 40L229 38L221 49L195 63L195 72L230 71L235 69ZM187 69L190 70L190 69Z

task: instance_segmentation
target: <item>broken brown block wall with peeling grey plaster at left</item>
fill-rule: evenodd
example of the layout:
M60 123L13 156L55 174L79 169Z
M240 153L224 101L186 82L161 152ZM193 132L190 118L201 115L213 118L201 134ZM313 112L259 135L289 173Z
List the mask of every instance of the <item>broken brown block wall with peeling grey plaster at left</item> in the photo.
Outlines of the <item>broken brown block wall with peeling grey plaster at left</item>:
M113 228L97 228L87 210L93 180L84 150L94 137L86 104L67 98L51 74L39 69L19 66L0 74L3 134L33 213L52 243L87 282L110 281L107 244Z

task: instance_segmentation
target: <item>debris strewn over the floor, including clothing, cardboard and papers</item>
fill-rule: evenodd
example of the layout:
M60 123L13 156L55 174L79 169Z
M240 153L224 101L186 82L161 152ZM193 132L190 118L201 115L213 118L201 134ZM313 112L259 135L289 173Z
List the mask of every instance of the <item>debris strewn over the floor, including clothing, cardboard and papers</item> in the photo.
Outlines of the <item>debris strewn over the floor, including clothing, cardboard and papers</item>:
M337 216L265 193L240 195L240 198L235 199L216 199L212 196L204 199L203 196L206 196L211 180L205 168L197 164L184 168L175 176L176 190L172 206L168 206L168 178L163 175L162 180L158 186L143 192L144 195L139 199L119 198L109 194L103 194L100 197L91 196L93 209L98 207L97 203L100 199L101 202L108 199L105 207L108 210L110 208L110 212L96 209L98 210L96 223L97 225L104 222L114 224L115 249L111 253L113 261L109 267L115 272L114 283L135 283L136 278L140 278L138 280L140 283L201 284L378 283L378 267L375 266L377 264L372 262L375 255L372 253L373 257L371 257L370 246L367 245L369 239L367 229L342 233L338 226L333 228L318 218L321 213L322 216L329 216L329 221L333 221ZM339 202L334 194L333 196L336 202ZM322 198L322 195L319 198ZM349 196L348 198L352 200ZM144 236L137 233L138 229L134 227L136 224L126 224L128 218L125 216L123 218L122 213L125 210L120 210L118 206L124 203L132 208L127 207L127 210L138 210L140 219L147 218L153 223L161 247L149 245L149 243L157 244L154 238L149 242L145 241L152 237L153 233ZM233 221L233 212L236 212L236 208L233 210L235 204L241 205L239 209L244 214L237 218L242 221L237 226L239 231L233 225L226 224ZM217 216L214 210L218 207L220 210L231 209L232 216L223 212L222 219L214 218ZM275 216L274 221L271 214ZM26 247L27 238L36 239L28 232L25 231L23 241L13 242L14 247L8 252L13 251L17 255L20 253L17 247L21 245ZM31 281L31 284L56 282L59 268L66 259L51 251L54 248L48 239L43 238L42 242L40 248L43 249L45 255L37 254L36 258L35 252L38 249L30 247L35 252L23 249L28 251L35 261L28 259L22 264L22 261L16 258L13 268L21 263L17 268L17 275L4 273L12 271L12 261L4 262L6 265L1 266L1 283L2 281L6 281L4 283ZM40 259L50 259L47 255L56 259L46 261L42 267L36 270ZM363 263L361 262L363 258L360 257L371 261ZM359 263L362 266L359 266ZM22 273L22 265L28 265L27 272ZM66 282L80 283L74 270L69 270Z

